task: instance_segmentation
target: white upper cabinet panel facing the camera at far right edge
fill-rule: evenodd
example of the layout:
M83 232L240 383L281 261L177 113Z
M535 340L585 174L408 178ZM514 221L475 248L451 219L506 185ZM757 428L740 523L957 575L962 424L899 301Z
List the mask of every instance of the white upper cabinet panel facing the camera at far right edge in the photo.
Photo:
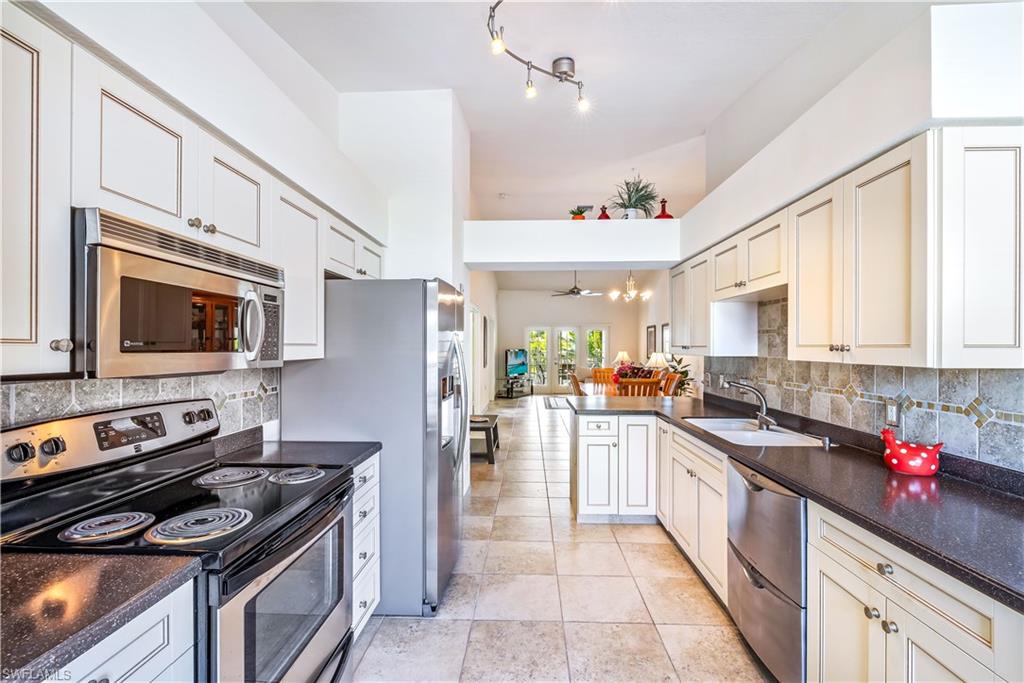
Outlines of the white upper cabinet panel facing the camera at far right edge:
M1024 368L1024 132L941 134L941 365Z

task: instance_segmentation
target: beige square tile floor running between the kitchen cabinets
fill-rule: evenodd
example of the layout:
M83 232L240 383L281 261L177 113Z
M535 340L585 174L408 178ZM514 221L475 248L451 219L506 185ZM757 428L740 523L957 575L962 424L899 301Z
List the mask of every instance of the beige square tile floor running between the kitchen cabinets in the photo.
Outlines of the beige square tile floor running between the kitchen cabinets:
M575 524L567 410L495 403L462 553L434 618L371 620L356 681L762 681L729 617L656 525Z

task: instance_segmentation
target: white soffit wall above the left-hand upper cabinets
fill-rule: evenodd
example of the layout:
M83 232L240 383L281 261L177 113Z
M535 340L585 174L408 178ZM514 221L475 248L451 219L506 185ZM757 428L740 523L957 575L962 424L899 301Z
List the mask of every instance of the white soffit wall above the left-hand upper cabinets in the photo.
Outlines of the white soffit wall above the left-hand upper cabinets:
M335 140L194 2L45 2L26 8L165 91L380 242L384 196ZM283 57L285 62L294 59Z

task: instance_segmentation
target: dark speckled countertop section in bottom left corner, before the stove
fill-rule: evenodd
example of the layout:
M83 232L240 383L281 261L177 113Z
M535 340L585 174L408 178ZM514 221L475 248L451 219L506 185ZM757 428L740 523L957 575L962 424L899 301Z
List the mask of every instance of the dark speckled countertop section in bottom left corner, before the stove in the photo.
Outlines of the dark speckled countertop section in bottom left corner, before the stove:
M196 577L183 555L0 554L0 674L41 681Z

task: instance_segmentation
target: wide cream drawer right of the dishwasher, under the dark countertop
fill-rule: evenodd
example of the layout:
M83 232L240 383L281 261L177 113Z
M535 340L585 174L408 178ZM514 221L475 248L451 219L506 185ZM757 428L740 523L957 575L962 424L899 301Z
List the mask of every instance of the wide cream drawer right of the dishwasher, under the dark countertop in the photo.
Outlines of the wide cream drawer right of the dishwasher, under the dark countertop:
M1024 615L814 503L808 540L1002 678L1024 679Z

